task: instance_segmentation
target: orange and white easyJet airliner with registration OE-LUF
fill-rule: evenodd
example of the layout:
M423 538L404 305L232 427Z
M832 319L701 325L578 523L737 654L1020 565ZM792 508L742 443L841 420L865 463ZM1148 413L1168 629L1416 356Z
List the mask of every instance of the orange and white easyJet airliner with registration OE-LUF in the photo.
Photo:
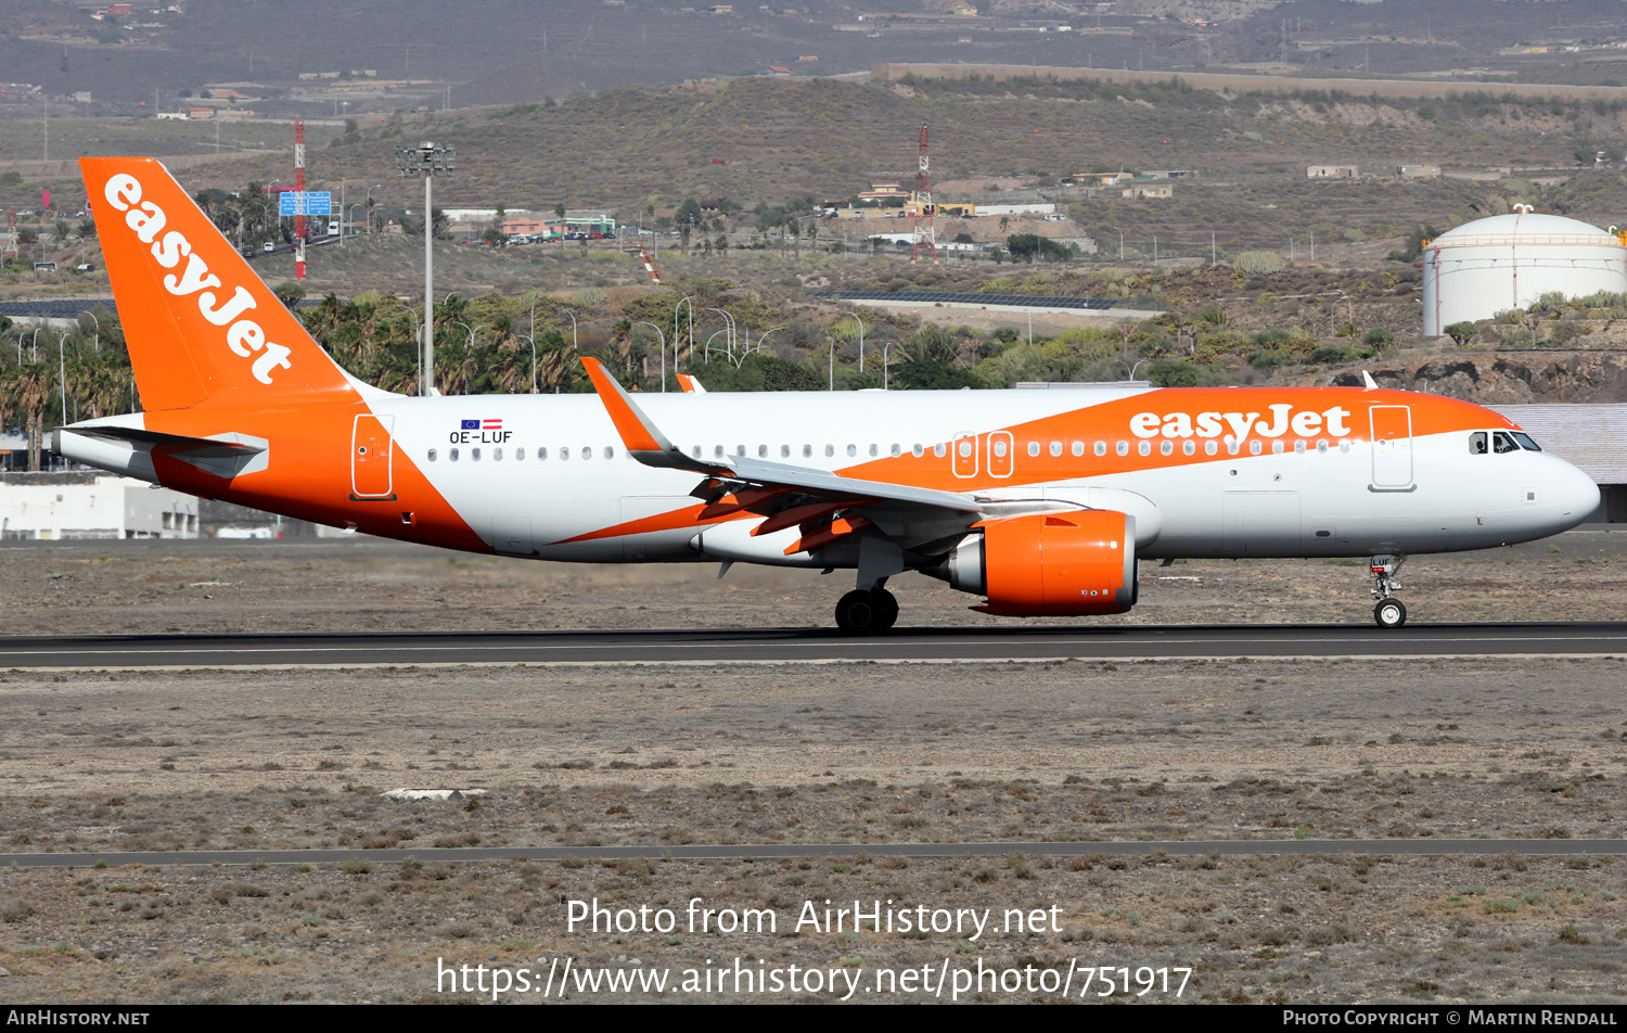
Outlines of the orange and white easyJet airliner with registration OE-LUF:
M1594 483L1485 408L1355 387L403 397L306 333L169 172L80 163L146 412L67 459L373 535L584 563L919 571L1004 617L1121 613L1141 560L1372 556L1557 534Z

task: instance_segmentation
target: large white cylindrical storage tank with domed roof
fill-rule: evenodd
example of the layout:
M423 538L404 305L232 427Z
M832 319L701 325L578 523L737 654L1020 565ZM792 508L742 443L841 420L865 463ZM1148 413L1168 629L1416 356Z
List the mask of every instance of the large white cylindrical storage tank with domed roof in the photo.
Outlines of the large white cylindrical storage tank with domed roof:
M1611 228L1614 229L1614 226ZM1627 293L1627 246L1609 231L1515 205L1464 223L1424 247L1424 335L1523 309L1549 291Z

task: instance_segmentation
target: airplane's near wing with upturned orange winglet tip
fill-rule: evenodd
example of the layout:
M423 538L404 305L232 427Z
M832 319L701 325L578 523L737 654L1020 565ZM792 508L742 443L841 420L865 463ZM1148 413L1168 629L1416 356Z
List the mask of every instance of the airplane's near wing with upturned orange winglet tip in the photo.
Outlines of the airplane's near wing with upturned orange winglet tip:
M812 548L815 542L833 540L831 532L841 537L872 524L882 529L896 524L893 519L883 519L880 511L905 511L919 517L950 517L960 527L971 522L968 517L984 512L981 501L958 491L859 480L830 470L748 455L722 459L687 455L644 415L638 402L604 368L604 363L584 356L582 364L610 412L622 444L635 459L644 465L693 470L706 477L693 493L708 503L703 517L745 509L771 517L770 522L765 522L768 527L776 514L784 512L786 517L792 517L800 516L794 511L805 511L807 519L797 521L804 530L800 543L809 543ZM844 516L848 511L861 508L874 509L866 517ZM789 521L781 525L789 525Z

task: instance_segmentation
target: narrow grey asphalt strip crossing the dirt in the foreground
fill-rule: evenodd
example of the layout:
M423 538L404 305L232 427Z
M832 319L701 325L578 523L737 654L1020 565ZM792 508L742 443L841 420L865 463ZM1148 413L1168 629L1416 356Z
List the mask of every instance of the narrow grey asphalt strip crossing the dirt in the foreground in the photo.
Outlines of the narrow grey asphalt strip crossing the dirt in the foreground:
M338 864L358 859L374 864L403 861L771 861L778 857L1005 857L1033 854L1082 857L1090 854L1170 854L1183 857L1274 856L1487 856L1520 854L1596 857L1627 854L1627 839L1168 839L1134 843L760 843L748 846L464 846L444 849L379 851L109 851L104 854L0 854L0 869L89 869L127 864Z

